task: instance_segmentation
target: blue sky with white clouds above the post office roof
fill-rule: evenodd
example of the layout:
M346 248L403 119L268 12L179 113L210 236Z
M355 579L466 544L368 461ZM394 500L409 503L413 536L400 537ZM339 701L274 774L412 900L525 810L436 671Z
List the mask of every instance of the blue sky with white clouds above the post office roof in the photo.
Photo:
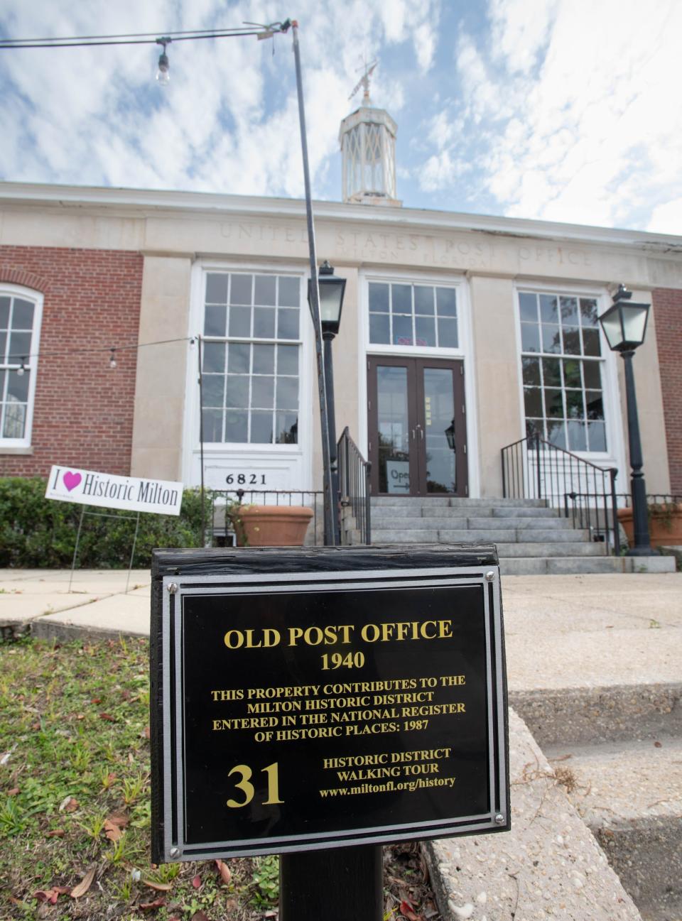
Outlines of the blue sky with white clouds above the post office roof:
M682 234L682 0L0 0L0 37L300 23L314 198L363 63L406 207ZM0 50L0 181L303 197L291 33Z

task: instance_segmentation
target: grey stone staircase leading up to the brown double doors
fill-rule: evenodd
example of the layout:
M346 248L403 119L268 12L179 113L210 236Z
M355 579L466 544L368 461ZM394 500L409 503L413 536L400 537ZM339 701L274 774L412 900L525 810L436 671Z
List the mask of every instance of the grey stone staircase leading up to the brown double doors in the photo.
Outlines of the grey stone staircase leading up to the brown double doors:
M374 496L371 542L495 543L506 576L673 572L672 557L620 557L540 499Z

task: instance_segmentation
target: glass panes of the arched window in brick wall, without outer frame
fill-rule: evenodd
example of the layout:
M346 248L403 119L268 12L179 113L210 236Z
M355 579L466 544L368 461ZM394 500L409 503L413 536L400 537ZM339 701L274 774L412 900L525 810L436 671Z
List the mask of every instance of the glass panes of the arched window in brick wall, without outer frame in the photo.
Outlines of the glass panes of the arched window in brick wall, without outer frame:
M28 437L36 304L0 292L0 442Z

